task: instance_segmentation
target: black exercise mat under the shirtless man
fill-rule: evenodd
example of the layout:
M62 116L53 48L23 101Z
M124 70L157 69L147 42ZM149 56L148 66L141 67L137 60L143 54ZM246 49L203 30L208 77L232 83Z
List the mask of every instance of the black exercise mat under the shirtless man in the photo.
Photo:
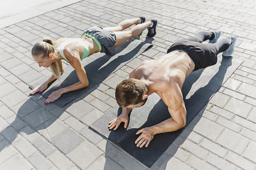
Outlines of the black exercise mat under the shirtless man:
M242 60L232 60L232 57L223 57L221 64L218 62L218 64L212 67L197 70L189 75L182 89L187 111L186 125L201 111L203 106L208 103L213 94L220 89L220 86L235 72L235 69L240 64L242 64ZM107 127L110 120L116 118L121 111L122 109L118 106L112 108L105 115L102 115L100 119L96 120L95 123L92 123L90 128L124 149L124 151L148 167L152 166L159 159L161 154L164 153L183 130L155 135L149 147L140 149L134 144L137 137L139 137L135 133L141 128L156 125L163 120L171 118L167 107L157 94L152 94L144 106L135 108L132 111L127 130L123 128L124 123L115 131L108 130Z

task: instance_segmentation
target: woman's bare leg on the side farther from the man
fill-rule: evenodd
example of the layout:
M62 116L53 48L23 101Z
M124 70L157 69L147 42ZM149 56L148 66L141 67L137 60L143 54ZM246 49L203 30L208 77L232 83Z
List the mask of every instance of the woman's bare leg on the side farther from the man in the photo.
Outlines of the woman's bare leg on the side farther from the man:
M113 32L115 31L122 31L126 28L129 28L130 26L134 24L139 24L141 22L141 18L133 18L133 19L127 19L124 21L121 21L120 23L117 24L117 26L114 27L106 27L104 28L105 30L111 30Z

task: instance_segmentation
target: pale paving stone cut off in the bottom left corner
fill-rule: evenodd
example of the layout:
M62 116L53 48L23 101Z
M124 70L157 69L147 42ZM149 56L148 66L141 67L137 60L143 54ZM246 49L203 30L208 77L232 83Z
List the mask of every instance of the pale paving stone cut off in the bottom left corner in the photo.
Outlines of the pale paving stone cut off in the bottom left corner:
M8 159L3 164L0 164L0 169L14 170L14 169L33 169L33 166L29 164L23 157L16 154L11 159Z

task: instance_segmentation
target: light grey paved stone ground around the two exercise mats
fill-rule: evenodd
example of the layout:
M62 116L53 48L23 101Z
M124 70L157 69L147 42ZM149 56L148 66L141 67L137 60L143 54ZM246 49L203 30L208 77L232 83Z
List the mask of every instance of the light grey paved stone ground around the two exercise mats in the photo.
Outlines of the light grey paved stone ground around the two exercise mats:
M151 169L256 169L256 2L247 0L77 1L0 29L0 169L147 169L88 129L116 105L112 82L142 60L159 57L198 30L238 35L233 57L245 62ZM28 96L28 84L50 75L31 58L49 37L78 37L89 26L125 18L159 21L154 47L65 108ZM146 33L143 33L142 40Z

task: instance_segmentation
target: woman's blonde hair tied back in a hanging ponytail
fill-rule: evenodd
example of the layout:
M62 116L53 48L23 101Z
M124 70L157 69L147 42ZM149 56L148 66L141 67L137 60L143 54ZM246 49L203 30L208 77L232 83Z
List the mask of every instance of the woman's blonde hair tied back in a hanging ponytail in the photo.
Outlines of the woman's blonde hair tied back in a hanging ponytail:
M43 54L43 58L49 57L50 53L55 53L55 48L53 41L48 38L44 38L43 41L37 42L31 50L32 55ZM53 76L56 79L60 79L60 74L63 72L63 64L61 60L50 64L50 70L53 72Z

